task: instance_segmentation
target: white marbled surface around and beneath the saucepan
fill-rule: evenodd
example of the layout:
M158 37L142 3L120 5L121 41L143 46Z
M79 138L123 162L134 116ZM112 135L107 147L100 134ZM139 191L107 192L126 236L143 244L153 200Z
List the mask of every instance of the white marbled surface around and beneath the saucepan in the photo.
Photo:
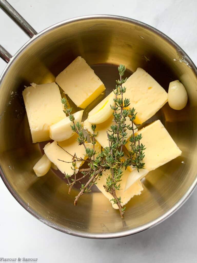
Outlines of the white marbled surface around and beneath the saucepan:
M197 64L196 0L10 0L40 32L59 21L86 14L131 17L159 29ZM0 43L14 54L28 37L0 10ZM6 26L5 26L6 25ZM0 73L6 63L0 60ZM32 257L38 262L196 262L197 191L169 219L140 234L114 240L88 240L39 222L0 180L0 257Z

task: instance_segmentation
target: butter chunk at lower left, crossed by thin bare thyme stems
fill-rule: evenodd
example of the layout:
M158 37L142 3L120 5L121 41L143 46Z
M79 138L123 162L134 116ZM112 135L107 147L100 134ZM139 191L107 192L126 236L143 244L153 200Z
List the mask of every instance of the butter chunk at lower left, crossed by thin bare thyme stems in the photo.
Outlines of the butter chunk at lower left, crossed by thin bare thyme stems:
M57 168L63 174L64 172L69 175L73 174L73 170L71 169L72 163L66 163L66 162L72 162L72 156L74 156L75 153L77 158L86 159L85 148L83 145L79 145L79 143L76 141L77 137L78 135L76 134L68 140L61 141L59 143L57 141L54 141L53 143L48 143L44 146L44 153L46 154L46 156L49 158L49 160L52 163L54 163L57 166ZM58 146L58 144L63 149L60 146ZM84 161L76 161L77 171L83 163Z

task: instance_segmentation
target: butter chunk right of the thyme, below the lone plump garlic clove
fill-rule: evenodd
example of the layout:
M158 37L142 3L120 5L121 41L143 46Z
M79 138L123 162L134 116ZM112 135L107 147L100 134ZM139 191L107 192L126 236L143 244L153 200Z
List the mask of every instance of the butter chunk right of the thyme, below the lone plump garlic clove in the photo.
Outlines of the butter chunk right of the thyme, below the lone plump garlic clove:
M143 159L144 168L148 171L154 170L181 155L182 151L175 144L160 120L156 120L137 131L136 135L140 133L142 134L140 143L146 147ZM130 142L126 144L126 148L131 150Z

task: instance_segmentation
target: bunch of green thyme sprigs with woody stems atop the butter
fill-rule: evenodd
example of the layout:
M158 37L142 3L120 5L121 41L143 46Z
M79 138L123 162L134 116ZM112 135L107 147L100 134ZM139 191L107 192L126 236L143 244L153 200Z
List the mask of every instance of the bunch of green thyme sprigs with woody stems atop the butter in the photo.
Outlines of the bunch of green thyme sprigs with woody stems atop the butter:
M118 72L120 79L116 80L116 88L113 90L115 94L114 104L110 105L113 110L113 125L111 125L110 130L107 132L107 138L109 146L101 150L100 153L95 151L96 136L96 125L92 124L92 133L90 134L90 140L92 143L92 148L86 147L87 136L84 136L83 127L81 123L75 123L75 118L72 115L72 108L68 108L66 99L63 98L61 102L64 104L64 113L68 114L70 121L72 122L72 131L78 134L77 141L79 145L83 145L86 151L86 158L77 158L76 154L72 156L72 170L74 174L74 179L71 179L71 175L65 174L65 178L69 185L69 194L77 181L89 176L89 179L85 184L81 184L80 192L75 197L74 205L77 205L77 201L81 195L89 193L97 180L102 176L103 172L108 170L108 176L106 178L106 183L103 185L105 190L111 194L112 199L110 201L118 206L120 215L123 218L126 207L122 206L121 196L118 197L118 191L121 189L121 180L123 176L123 170L127 169L128 166L133 166L139 169L144 168L143 158L145 146L140 144L142 139L141 134L135 135L134 120L136 118L136 112L134 108L129 108L130 101L128 98L124 98L126 92L126 87L123 84L126 82L127 78L123 78L125 74L125 66L120 65L118 67ZM129 124L126 124L126 119L130 120ZM128 122L127 122L128 123ZM132 130L132 135L128 137L128 131ZM127 141L131 143L131 150L128 152L127 158L125 159L125 154L123 151L123 146ZM58 144L59 145L59 144ZM60 145L59 145L60 146ZM61 146L60 146L61 147ZM82 173L81 178L76 179L76 162L86 161L89 168L80 169ZM61 160L64 161L64 160Z

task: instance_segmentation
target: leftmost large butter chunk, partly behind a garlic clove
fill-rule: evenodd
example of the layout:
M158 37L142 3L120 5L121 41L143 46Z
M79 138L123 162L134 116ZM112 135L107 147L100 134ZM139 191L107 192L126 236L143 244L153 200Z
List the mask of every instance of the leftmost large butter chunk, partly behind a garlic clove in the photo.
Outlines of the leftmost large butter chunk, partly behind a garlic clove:
M23 99L33 143L50 140L50 125L66 117L58 85L53 83L27 87Z

